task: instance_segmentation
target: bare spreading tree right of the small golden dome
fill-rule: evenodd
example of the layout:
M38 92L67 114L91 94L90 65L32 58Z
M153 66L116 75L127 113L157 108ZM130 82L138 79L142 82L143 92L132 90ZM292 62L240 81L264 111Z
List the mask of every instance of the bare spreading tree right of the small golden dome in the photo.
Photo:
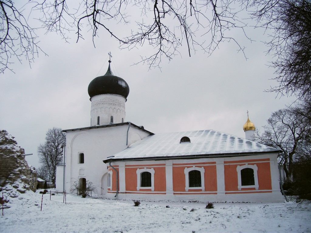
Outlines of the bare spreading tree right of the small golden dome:
M256 131L254 139L283 151L286 179L291 180L294 155L298 145L307 136L310 125L288 108L273 112L267 123L266 126L263 126L264 132L262 134L258 130Z

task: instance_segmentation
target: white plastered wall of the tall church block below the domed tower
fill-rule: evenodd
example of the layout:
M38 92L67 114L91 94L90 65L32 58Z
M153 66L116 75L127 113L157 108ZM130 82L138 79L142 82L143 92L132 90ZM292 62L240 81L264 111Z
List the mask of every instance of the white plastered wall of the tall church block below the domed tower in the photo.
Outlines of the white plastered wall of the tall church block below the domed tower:
M108 172L103 160L128 147L137 140L143 139L149 133L128 125L104 127L86 130L67 131L66 133L66 170L65 190L80 178L86 178L97 186L98 194L102 192L102 177ZM79 163L78 155L84 153L84 163ZM62 175L63 177L63 175ZM63 187L59 180L58 187ZM62 188L63 190L63 188Z

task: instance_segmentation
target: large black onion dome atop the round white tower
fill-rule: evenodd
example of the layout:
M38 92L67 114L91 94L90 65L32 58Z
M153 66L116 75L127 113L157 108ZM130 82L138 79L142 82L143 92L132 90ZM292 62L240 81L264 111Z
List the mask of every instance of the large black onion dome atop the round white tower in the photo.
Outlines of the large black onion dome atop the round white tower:
M122 95L124 98L128 97L130 88L124 79L115 76L110 70L110 60L109 67L105 75L96 77L93 79L87 92L89 93L90 98L95 95L101 94L116 94Z

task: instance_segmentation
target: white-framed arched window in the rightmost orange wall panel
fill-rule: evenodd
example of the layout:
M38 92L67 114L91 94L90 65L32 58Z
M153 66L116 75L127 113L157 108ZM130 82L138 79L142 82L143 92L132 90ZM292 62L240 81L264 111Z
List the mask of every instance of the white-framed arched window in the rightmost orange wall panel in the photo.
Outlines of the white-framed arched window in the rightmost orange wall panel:
M258 185L258 167L257 165L245 164L243 166L237 166L236 171L238 173L238 189L242 188L255 188L259 189Z

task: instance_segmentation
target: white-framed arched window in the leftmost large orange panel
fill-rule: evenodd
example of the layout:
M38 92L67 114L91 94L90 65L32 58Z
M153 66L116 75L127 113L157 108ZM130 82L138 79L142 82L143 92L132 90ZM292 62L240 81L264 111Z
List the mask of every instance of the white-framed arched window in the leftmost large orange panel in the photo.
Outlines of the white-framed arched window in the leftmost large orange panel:
M155 180L155 170L153 168L142 168L137 169L137 191L140 189L151 189L155 190L154 180Z

